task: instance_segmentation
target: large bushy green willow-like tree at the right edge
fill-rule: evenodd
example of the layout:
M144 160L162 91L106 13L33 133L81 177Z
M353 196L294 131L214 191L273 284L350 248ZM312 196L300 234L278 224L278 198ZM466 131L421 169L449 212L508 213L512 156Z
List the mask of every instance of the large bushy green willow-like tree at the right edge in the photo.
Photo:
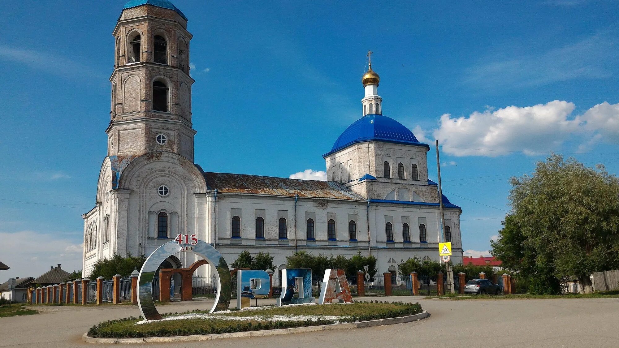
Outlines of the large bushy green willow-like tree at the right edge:
M592 290L592 272L619 267L617 176L553 154L511 185L513 211L492 245L508 267L537 282L575 277L584 292Z

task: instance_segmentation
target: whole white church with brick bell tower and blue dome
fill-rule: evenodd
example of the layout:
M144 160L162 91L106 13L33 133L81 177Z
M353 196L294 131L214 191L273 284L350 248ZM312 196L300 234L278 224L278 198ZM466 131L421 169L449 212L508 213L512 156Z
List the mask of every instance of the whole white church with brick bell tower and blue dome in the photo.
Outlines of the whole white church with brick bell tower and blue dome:
M178 233L196 233L228 263L244 250L269 252L279 269L301 250L372 254L379 273L397 272L400 259L439 260L443 238L438 187L428 178L430 147L383 116L371 63L362 78L361 117L323 155L327 181L214 173L208 163L194 163L192 35L183 12L167 0L131 0L113 35L108 154L95 207L82 215L85 276L98 259L149 255ZM441 199L445 238L458 264L462 210ZM168 261L186 267L196 256Z

